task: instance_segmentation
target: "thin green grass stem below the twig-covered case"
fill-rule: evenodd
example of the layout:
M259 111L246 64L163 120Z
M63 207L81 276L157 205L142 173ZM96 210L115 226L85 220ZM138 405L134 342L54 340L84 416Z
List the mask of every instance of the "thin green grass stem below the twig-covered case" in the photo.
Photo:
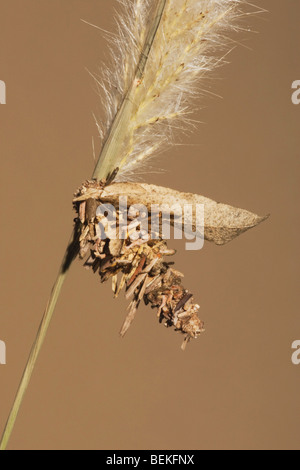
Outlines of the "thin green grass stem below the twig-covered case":
M39 330L38 330L37 336L35 338L34 344L32 346L31 353L30 353L27 365L25 367L23 377L21 379L21 382L20 382L20 385L19 385L19 388L18 388L17 395L15 397L13 407L11 409L9 418L7 420L7 423L6 423L4 432L3 432L3 436L2 436L2 439L1 439L1 443L0 443L0 450L6 450L6 448L7 448L8 441L9 441L11 433L13 431L13 428L14 428L14 425L15 425L15 422L16 422L21 404L22 404L24 396L25 396L25 392L26 392L27 387L29 385L29 382L30 382L30 379L31 379L31 376L32 376L32 373L33 373L34 366L35 366L36 361L38 359L38 356L39 356L40 350L42 348L43 342L45 340L45 336L46 336L46 333L48 331L48 328L49 328L49 325L50 325L50 322L51 322L51 319L52 319L52 316L53 316L53 312L54 312L59 294L61 292L63 283L64 283L66 275L67 275L67 273L70 269L70 266L71 266L72 262L74 261L74 259L76 258L77 254L78 254L78 235L77 235L77 231L75 229L74 233L72 234L72 238L69 242L69 245L67 247L67 250L66 250L62 265L61 265L61 268L59 270L57 280L56 280L56 282L53 286L51 296L50 296L50 299L49 299L49 302L48 302L43 320L42 320L41 325L39 327Z

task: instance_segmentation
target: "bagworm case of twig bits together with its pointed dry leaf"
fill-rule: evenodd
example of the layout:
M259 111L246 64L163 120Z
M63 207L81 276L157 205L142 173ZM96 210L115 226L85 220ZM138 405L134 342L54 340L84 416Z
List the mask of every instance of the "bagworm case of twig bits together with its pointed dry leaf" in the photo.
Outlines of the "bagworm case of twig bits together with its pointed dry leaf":
M106 185L105 181L87 181L76 192L73 203L78 214L77 223L80 225L79 256L85 260L86 268L100 275L102 282L111 279L116 297L124 289L126 298L130 300L121 336L129 329L140 303L144 301L157 309L161 323L166 327L174 327L185 335L182 346L184 349L191 338L197 338L204 331L204 324L198 317L200 307L194 303L193 295L183 287L183 274L174 269L173 262L167 261L175 251L168 248L165 240L153 239L149 233L140 231L139 238L133 241L137 225L130 223L134 222L134 218L129 212L126 214L126 233L122 239L115 238L116 230L122 227L122 214L118 206L121 195L129 198L130 205L150 206L150 203L163 200L171 206L175 200L182 205L187 201L201 201L208 212L205 237L216 244L227 243L265 218L242 209L217 204L202 196L153 185ZM109 218L103 212L98 213L98 208L108 202L115 207L112 222L108 222Z

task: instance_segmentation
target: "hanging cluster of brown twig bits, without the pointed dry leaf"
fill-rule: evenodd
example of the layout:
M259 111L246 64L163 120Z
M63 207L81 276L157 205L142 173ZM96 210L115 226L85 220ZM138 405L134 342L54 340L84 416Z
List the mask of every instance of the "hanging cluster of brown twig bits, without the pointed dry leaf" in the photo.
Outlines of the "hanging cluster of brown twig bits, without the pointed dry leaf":
M204 331L198 318L199 305L183 287L183 274L173 268L166 258L175 254L164 240L150 236L132 241L130 230L124 240L103 240L99 233L103 216L97 216L97 207L103 202L103 182L86 182L75 194L74 205L81 225L80 258L84 265L100 275L101 281L112 280L114 295L125 289L130 300L128 315L121 329L124 336L134 320L142 301L157 309L157 316L166 327L174 327L185 335L183 348L191 338ZM98 191L98 193L97 193ZM90 197L93 195L93 197ZM119 220L119 213L116 213ZM128 215L130 221L130 215ZM102 226L109 236L115 227Z

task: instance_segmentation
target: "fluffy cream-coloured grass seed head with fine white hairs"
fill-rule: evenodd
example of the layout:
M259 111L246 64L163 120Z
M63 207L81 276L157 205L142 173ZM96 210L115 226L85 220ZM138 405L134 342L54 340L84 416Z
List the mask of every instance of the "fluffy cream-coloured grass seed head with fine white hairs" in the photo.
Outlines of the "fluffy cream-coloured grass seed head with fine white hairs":
M245 2L118 1L123 6L118 33L108 37L113 65L97 80L106 110L106 123L99 128L105 142L124 100L130 100L126 134L113 156L114 168L120 168L117 178L128 180L143 172L151 156L174 143L174 130L193 125L195 97L205 93L204 77L224 62L232 48L225 35L238 29L236 19L245 14L241 11ZM163 15L140 77L138 64L159 3L165 4Z

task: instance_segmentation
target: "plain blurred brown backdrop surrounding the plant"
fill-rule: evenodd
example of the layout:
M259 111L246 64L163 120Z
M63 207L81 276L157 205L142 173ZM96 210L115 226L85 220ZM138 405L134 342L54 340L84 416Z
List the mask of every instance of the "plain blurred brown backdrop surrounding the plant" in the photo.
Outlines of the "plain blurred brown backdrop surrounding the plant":
M10 449L300 448L300 4L257 3L269 10L248 19L258 34L240 34L247 47L211 82L223 99L204 100L191 145L145 181L272 218L222 248L174 243L207 328L186 353L146 307L120 340L126 302L77 263ZM113 29L115 6L0 1L1 430L71 230L72 193L94 164L101 105L85 67L97 71L107 46L80 18Z

